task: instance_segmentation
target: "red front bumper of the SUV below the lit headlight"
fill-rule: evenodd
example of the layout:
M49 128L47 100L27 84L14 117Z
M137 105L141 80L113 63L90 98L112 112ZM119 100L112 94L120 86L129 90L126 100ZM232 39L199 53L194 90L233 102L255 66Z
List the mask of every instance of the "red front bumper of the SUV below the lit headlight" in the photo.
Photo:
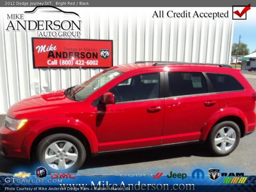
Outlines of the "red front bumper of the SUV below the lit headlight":
M0 154L7 157L28 158L22 151L24 139L28 132L12 131L4 125L0 127Z

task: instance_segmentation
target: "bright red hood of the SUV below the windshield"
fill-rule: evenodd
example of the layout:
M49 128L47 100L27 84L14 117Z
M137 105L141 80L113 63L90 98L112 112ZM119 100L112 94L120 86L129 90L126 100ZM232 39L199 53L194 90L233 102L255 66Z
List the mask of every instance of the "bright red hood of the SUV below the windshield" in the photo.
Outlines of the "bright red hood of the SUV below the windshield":
M64 90L46 92L15 103L9 108L7 115L12 118L19 118L18 116L22 114L60 108L76 102L68 99L64 94Z

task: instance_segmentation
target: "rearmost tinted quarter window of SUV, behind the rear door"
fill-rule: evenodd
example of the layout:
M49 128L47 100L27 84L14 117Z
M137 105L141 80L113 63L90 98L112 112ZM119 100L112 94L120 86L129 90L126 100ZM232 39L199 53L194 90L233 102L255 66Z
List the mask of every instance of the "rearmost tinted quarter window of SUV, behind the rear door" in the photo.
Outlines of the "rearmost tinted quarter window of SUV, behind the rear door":
M226 74L207 73L215 92L241 91L244 87L233 77Z

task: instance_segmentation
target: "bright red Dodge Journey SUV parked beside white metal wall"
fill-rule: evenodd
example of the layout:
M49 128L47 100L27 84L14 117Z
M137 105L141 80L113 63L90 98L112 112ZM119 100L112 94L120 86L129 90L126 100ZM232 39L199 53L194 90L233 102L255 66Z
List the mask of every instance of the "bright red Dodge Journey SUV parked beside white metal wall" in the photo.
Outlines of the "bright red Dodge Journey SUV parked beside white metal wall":
M21 100L0 129L4 156L75 170L86 156L206 141L231 153L253 132L256 93L228 65L137 62Z

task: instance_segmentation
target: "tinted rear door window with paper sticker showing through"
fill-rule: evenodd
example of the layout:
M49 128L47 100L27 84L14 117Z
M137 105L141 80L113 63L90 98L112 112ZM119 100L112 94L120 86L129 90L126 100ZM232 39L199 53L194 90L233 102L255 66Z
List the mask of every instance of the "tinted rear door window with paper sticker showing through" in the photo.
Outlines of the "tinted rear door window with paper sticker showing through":
M206 80L198 72L169 72L170 96L207 93Z

